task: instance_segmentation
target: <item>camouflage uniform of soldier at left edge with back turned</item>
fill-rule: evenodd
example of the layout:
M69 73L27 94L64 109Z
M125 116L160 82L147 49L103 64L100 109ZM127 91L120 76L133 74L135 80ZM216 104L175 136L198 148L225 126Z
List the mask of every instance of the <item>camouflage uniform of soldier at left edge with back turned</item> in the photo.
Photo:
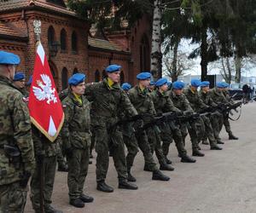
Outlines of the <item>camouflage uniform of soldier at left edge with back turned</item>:
M20 213L27 193L22 178L35 168L31 123L26 103L9 78L0 76L0 91L0 212ZM20 156L7 157L4 145L17 147Z

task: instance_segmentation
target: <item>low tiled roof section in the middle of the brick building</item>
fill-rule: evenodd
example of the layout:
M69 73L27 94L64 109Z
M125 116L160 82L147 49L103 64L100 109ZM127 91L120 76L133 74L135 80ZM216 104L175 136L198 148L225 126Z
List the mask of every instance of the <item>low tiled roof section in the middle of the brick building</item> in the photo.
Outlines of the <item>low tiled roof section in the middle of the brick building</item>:
M123 49L117 43L113 43L112 41L108 41L104 39L88 37L88 44L89 44L89 47L93 47L96 49L108 49L108 50L113 50L118 52L129 53L129 51L127 51L126 49Z

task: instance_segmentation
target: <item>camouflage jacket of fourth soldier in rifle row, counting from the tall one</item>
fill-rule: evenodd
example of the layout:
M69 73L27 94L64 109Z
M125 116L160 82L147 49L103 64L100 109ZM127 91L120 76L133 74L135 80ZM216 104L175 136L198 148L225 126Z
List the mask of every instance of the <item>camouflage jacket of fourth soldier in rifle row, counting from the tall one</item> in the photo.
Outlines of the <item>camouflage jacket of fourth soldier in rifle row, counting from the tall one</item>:
M194 112L192 107L189 104L188 99L184 94L176 95L173 91L171 91L169 96L174 106L180 109L181 111Z

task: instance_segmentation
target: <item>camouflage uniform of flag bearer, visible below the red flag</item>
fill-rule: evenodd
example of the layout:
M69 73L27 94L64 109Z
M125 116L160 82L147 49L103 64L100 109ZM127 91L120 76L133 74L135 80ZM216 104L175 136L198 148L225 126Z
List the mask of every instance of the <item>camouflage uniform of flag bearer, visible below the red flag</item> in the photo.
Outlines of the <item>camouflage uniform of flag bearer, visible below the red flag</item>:
M54 142L49 141L34 125L32 125L32 139L37 161L37 167L30 183L32 207L36 212L40 212L40 179L43 178L44 210L45 212L51 212L49 209L51 208L51 195L55 181L57 154L60 149L59 143L57 140ZM42 164L43 177L42 171L40 171Z

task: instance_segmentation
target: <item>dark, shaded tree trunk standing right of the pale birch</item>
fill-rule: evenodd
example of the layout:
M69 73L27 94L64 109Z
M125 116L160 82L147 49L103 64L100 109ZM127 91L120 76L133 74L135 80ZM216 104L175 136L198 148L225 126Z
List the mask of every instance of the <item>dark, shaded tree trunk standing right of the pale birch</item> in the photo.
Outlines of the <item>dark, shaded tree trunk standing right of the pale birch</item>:
M207 79L207 66L208 66L208 57L207 57L207 28L203 27L201 32L201 81Z

